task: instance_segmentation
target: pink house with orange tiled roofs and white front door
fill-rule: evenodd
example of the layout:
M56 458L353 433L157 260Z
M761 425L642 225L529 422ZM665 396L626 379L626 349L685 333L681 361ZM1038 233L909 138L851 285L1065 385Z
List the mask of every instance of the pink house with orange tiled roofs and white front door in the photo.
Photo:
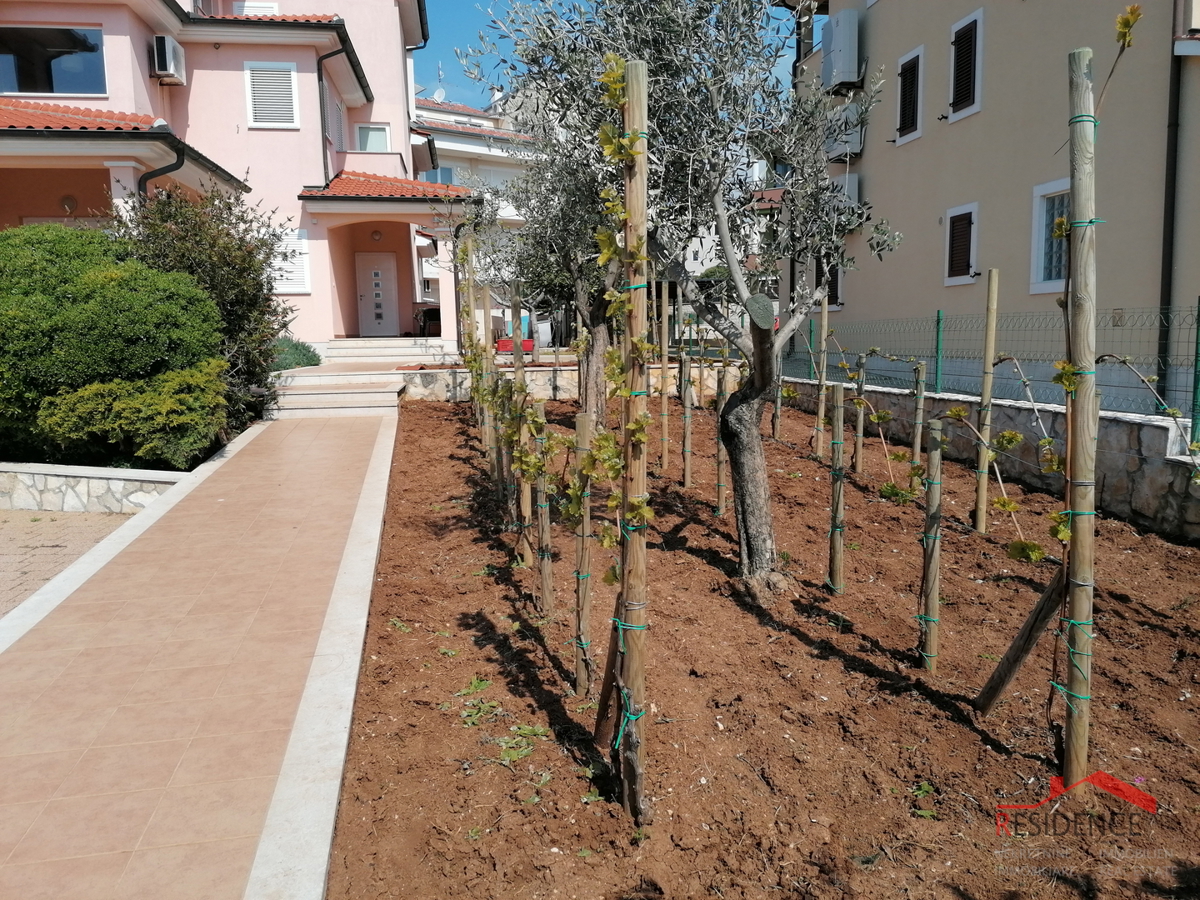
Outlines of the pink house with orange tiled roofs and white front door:
M422 290L421 259L439 236L448 258L469 192L421 179L427 40L425 0L0 0L0 228L86 224L156 185L251 190L292 229L295 337L454 354L452 270Z

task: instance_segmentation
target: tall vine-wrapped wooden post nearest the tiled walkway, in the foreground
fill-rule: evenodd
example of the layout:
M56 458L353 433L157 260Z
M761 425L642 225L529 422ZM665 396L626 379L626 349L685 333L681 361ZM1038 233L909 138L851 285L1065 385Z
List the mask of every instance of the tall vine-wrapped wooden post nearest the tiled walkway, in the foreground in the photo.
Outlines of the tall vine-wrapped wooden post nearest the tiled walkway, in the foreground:
M637 156L625 164L625 246L646 245L647 204L647 67L643 60L625 64L625 133L635 137ZM641 140L636 140L636 138ZM632 262L625 266L629 278L631 302L625 334L646 334L646 280L647 266ZM630 424L648 418L648 380L646 365L630 347L625 354L625 420ZM622 485L622 586L619 616L613 623L624 653L617 662L618 706L620 724L613 742L620 775L622 805L634 821L649 821L649 796L644 788L646 740L642 716L646 714L646 522L636 517L638 504L649 496L646 491L646 444L625 439L625 476ZM636 521L635 521L636 520Z

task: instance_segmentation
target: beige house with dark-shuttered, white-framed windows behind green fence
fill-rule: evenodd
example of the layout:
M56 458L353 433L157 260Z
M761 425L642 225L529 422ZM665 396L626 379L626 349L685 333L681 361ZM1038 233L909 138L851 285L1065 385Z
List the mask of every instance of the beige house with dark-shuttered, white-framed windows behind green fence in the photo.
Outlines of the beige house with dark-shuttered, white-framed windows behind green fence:
M804 5L803 0L800 4ZM860 142L833 169L904 234L882 262L853 235L830 325L1002 312L1062 294L1067 54L1094 50L1097 90L1123 0L828 0L803 78L850 90L882 70ZM1099 110L1098 306L1194 310L1200 295L1200 0L1147 0ZM820 17L828 17L820 18ZM845 152L847 148L839 148Z

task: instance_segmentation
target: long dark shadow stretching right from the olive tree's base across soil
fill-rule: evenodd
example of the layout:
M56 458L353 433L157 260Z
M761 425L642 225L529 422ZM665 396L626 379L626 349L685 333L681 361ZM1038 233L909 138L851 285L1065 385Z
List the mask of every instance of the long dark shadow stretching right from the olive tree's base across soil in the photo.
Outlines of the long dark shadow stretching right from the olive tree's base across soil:
M988 746L994 752L1001 756L1021 756L1032 762L1038 762L1044 766L1054 766L1054 761L1045 756L1037 754L1018 752L1012 748L1007 746L1003 742L996 738L990 732L979 727L974 721L972 713L973 707L972 697L967 697L962 694L948 694L947 691L937 690L930 686L924 680L917 678L910 678L900 672L890 672L870 660L858 656L853 653L847 653L840 647L820 638L814 637L808 631L797 628L796 625L790 625L775 617L769 610L763 607L746 589L744 586L738 583L733 584L733 590L731 593L733 602L739 610L754 616L760 625L769 628L774 631L782 631L791 635L805 647L810 648L818 659L833 659L838 660L847 672L853 672L856 674L864 676L866 678L874 678L876 682L876 689L881 694L890 694L893 696L901 696L904 694L916 694L923 698L926 703L943 712L950 721L959 725L960 727L972 732L985 746ZM862 637L862 635L859 635Z

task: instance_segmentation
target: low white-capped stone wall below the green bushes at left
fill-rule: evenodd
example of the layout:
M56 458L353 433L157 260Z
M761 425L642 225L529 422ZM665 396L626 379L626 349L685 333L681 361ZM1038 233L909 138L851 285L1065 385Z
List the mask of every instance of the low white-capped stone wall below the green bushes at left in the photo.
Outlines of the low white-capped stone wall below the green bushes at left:
M0 463L0 509L132 514L149 506L185 474L92 466Z

